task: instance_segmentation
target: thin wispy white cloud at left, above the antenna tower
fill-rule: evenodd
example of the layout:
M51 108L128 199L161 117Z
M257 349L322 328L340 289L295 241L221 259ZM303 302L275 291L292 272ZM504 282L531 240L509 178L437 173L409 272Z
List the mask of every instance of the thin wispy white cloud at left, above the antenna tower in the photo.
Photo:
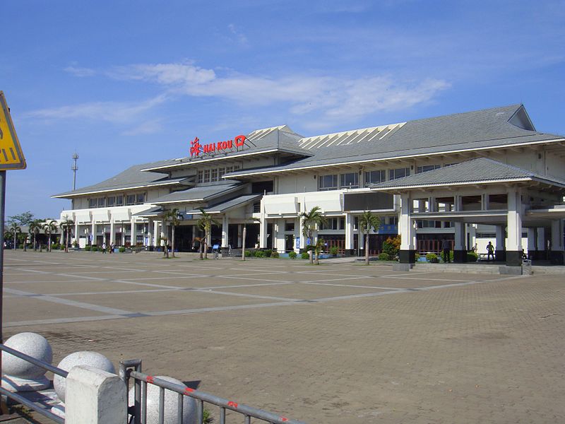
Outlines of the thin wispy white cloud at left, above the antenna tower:
M51 107L33 110L25 117L36 119L95 119L97 121L126 124L135 121L141 114L153 109L166 100L159 95L143 102L89 102L78 105Z

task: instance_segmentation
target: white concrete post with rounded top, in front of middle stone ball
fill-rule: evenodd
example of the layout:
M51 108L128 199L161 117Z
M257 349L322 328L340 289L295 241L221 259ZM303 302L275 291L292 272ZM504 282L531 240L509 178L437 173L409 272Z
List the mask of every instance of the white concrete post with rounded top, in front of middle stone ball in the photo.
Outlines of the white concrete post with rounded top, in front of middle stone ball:
M66 424L126 424L126 385L117 375L78 365L66 377L65 393Z

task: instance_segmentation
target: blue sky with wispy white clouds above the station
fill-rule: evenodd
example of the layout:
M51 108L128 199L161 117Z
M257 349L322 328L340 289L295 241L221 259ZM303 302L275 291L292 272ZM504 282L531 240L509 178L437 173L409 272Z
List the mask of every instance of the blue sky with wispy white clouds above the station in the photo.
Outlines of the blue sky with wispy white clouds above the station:
M28 161L6 215L189 141L304 136L523 102L565 134L565 1L28 1L0 6L0 90Z

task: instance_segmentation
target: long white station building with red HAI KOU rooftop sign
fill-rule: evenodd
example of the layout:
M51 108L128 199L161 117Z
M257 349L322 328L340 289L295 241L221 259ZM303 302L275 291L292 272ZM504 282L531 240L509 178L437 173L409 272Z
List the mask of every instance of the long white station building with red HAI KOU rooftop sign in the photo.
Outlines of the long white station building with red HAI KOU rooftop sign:
M308 242L301 214L327 218L316 237L363 255L363 211L381 217L369 235L378 254L401 235L400 261L439 252L456 261L486 243L513 266L523 254L564 260L565 137L537 131L523 105L417 119L304 137L288 126L195 138L184 158L134 165L118 175L57 194L78 245L158 248L169 240L162 217L177 209L175 247L194 249L201 210L212 215L210 245L290 252ZM524 249L524 253L523 253ZM485 250L486 252L486 250Z

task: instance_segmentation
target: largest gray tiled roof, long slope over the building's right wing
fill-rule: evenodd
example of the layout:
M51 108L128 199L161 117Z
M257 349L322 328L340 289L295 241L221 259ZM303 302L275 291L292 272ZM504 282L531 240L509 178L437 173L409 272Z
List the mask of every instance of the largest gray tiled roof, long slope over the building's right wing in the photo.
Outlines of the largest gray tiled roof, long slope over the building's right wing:
M544 134L511 124L509 120L514 114L525 113L522 108L522 105L511 105L417 119L398 126L382 139L367 142L361 139L347 146L323 147L316 149L315 154L309 158L278 167L240 170L225 177L563 139L563 136ZM367 136L371 136L371 133Z

